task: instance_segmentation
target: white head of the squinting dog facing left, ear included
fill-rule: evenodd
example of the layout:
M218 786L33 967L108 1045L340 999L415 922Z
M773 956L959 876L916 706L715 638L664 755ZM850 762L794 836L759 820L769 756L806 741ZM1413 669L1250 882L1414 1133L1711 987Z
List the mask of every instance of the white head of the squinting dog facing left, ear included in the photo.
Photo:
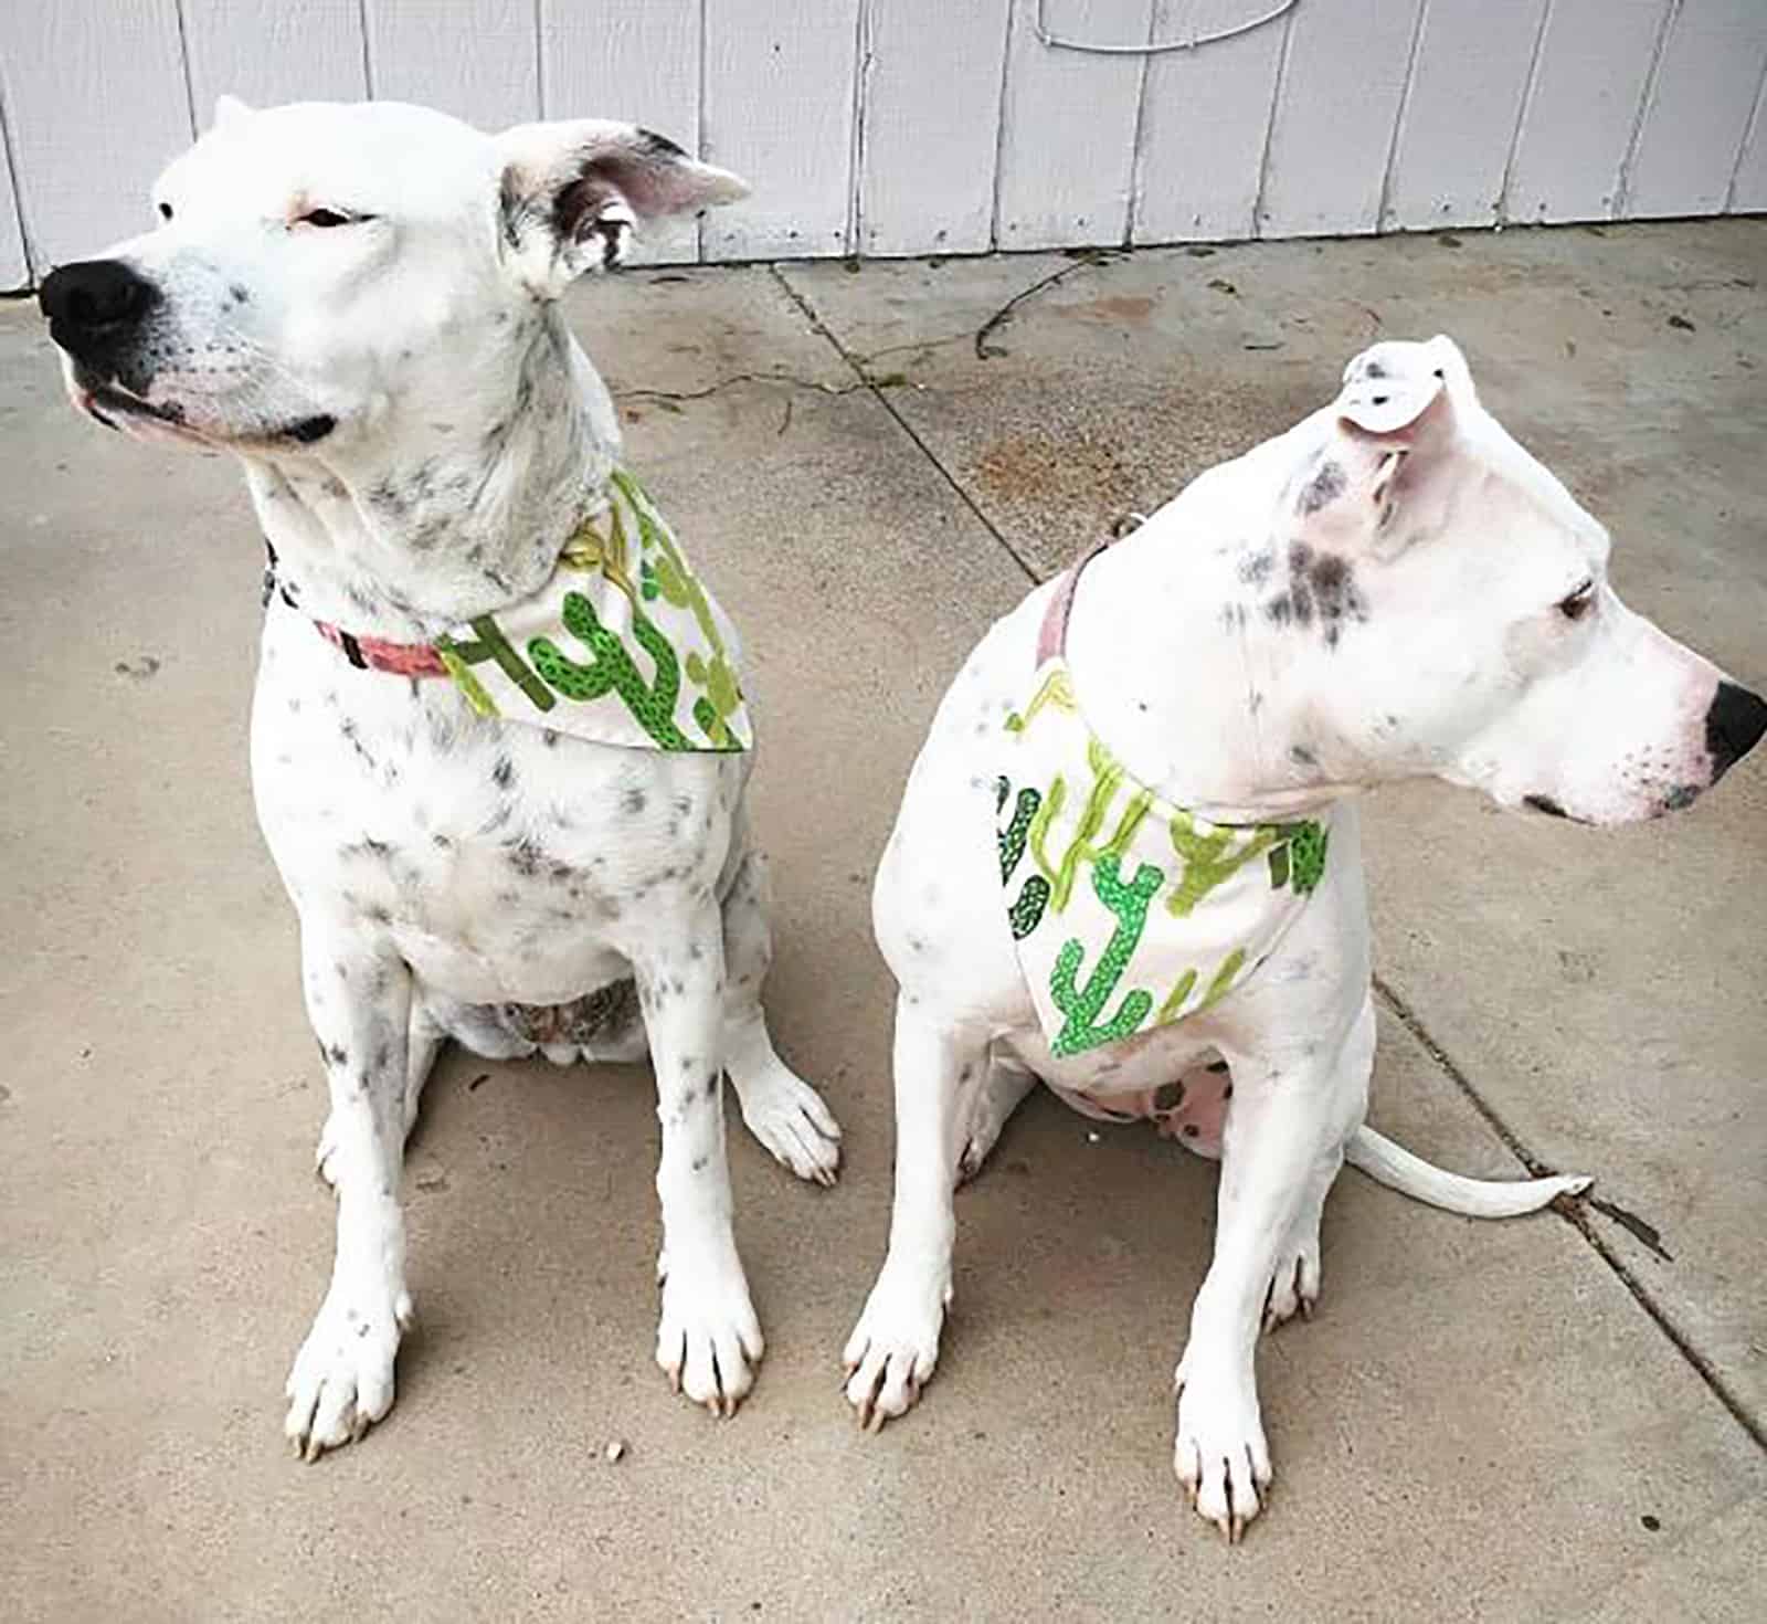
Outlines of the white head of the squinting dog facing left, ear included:
M157 228L51 272L41 304L101 422L337 447L497 399L537 306L620 263L640 221L744 193L631 124L486 136L396 102L223 97L154 187Z

